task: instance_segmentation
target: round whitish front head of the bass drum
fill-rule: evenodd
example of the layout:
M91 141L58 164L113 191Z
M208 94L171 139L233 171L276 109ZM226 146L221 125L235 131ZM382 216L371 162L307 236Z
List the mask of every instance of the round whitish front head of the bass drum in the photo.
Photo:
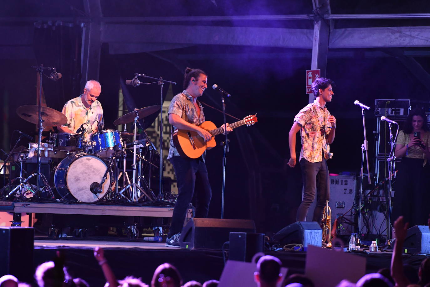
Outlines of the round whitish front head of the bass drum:
M106 172L107 164L94 155L83 155L74 160L67 171L66 182L70 193L79 201L95 202L106 195L111 186L111 175L107 173L101 193L92 193L92 183L100 183Z

